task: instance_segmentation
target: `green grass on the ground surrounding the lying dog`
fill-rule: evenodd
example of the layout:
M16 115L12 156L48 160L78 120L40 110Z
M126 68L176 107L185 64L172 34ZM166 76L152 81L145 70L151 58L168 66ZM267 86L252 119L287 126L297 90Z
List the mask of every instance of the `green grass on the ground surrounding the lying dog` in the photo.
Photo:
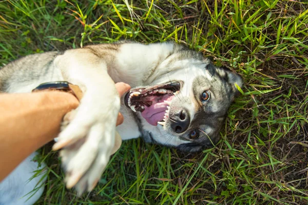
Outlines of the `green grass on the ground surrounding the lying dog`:
M175 40L245 81L215 148L185 154L125 141L81 198L46 146L37 204L307 204L307 36L307 1L0 1L1 65L119 39Z

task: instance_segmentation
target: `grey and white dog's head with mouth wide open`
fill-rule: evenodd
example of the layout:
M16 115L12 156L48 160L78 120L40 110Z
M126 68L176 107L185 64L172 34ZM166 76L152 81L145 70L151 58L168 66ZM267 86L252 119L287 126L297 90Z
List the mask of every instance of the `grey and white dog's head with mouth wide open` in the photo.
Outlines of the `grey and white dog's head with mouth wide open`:
M153 86L131 89L125 105L139 112L144 129L160 135L152 137L156 142L196 152L218 142L242 78L189 52L195 56L175 57L159 67Z

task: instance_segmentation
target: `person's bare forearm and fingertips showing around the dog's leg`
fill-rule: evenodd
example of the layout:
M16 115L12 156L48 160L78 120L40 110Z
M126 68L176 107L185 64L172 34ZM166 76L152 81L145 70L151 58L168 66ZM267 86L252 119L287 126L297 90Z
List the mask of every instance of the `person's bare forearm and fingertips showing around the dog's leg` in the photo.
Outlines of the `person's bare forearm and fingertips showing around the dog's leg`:
M115 84L120 96L130 89ZM61 91L0 94L0 181L32 152L60 132L63 116L79 106L72 94ZM123 123L118 114L117 126Z

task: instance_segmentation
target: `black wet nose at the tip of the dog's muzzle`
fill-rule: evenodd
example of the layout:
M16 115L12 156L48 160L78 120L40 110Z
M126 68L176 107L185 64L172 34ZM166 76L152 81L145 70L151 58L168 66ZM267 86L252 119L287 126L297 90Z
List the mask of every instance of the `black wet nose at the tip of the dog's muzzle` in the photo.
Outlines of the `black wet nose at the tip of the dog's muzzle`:
M169 120L171 121L172 130L176 133L185 132L190 124L190 117L185 109L175 113L169 113Z

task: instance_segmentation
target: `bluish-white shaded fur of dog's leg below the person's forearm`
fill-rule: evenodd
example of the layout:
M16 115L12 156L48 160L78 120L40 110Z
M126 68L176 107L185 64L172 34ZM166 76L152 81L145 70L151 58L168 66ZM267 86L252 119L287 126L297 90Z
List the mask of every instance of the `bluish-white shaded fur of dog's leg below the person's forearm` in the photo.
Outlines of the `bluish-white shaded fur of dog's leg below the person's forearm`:
M34 152L28 156L8 177L0 182L0 204L31 205L41 197L47 177L44 170L33 177L35 171L45 167L45 164L38 167L38 163L32 160L36 154Z

